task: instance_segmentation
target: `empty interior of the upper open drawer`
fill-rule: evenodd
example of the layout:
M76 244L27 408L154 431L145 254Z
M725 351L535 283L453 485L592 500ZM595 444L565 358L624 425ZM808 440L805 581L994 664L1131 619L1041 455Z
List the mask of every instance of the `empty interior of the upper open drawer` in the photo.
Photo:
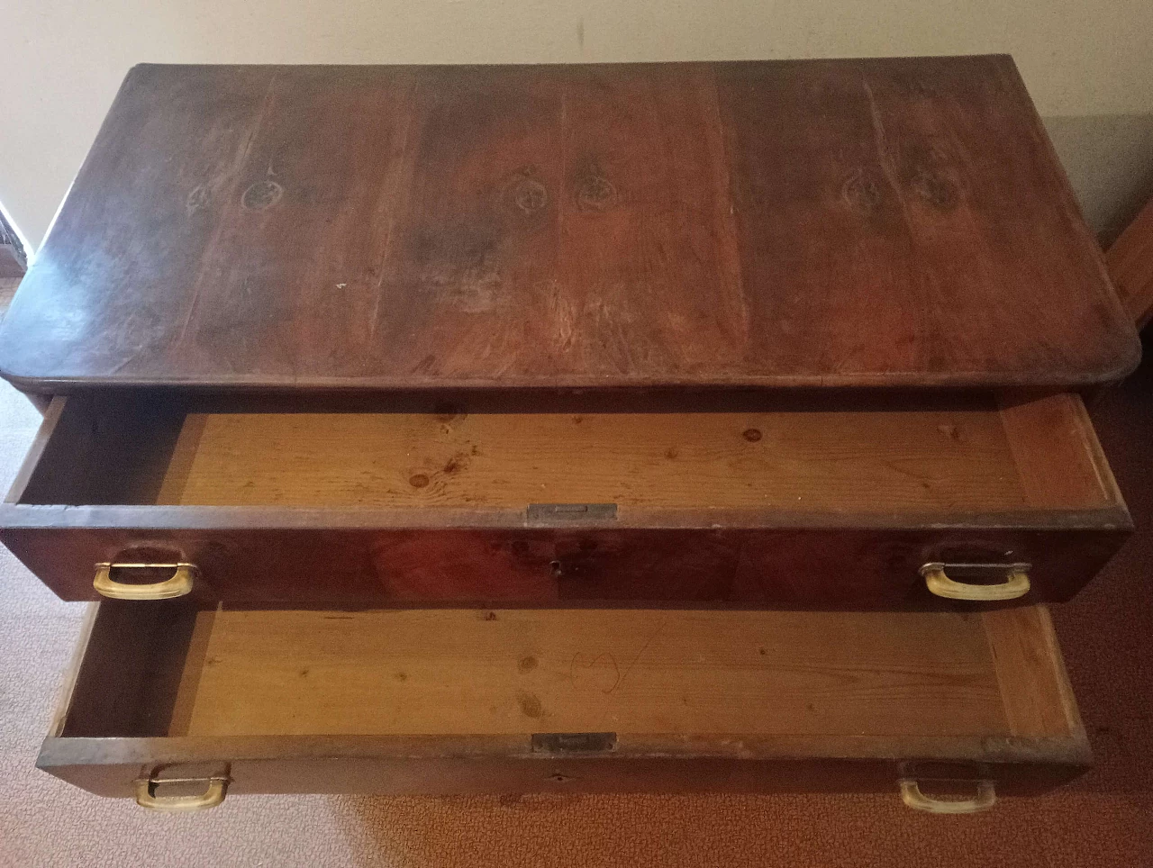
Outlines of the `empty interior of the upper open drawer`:
M417 412L423 410L423 412ZM1080 400L785 397L389 412L56 399L22 504L892 513L1121 503ZM1054 473L1060 468L1060 473Z

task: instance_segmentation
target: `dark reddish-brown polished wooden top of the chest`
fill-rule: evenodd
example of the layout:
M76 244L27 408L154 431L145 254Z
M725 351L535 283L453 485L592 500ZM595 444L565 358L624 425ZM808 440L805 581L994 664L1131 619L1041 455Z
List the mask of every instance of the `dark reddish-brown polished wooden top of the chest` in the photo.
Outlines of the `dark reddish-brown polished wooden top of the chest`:
M1137 362L1008 56L133 69L30 391L1076 385Z

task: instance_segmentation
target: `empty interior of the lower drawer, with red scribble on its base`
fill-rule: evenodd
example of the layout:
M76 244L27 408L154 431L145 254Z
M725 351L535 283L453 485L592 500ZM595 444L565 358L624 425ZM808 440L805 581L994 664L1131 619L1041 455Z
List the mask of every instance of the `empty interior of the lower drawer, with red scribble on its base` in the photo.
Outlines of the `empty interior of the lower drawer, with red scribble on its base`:
M1037 606L205 611L108 601L56 735L558 732L626 744L692 735L718 749L733 737L1084 747Z

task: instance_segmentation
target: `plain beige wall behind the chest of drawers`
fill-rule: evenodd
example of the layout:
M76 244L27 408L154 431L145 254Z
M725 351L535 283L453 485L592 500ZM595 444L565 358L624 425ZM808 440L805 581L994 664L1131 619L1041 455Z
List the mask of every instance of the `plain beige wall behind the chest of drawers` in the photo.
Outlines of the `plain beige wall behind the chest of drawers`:
M1015 55L1086 214L1153 193L1151 0L0 0L0 202L38 244L155 62Z

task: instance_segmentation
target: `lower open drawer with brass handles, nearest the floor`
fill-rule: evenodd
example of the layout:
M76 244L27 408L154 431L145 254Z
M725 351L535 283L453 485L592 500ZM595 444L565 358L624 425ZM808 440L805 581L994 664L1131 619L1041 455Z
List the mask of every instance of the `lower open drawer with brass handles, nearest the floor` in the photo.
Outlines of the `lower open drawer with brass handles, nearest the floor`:
M38 764L156 808L226 793L846 790L964 810L1090 763L1043 606L106 601L85 639Z

